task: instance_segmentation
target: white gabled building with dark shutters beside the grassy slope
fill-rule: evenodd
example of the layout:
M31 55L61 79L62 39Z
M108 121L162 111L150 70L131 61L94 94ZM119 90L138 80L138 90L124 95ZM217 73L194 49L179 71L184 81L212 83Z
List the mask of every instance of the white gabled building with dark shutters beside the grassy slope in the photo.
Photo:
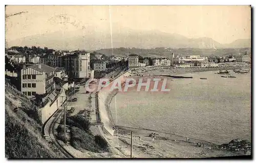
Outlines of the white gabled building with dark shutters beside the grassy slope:
M36 64L21 69L19 76L23 94L32 98L35 94L50 94L55 90L54 68L45 64Z

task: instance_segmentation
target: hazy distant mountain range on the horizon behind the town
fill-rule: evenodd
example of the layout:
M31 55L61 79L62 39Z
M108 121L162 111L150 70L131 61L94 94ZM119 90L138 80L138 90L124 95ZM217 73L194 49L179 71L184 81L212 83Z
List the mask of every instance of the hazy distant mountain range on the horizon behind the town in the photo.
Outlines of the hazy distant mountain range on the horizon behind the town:
M114 31L114 30L112 30ZM250 39L238 39L228 44L221 44L212 38L187 38L179 34L170 34L158 30L138 31L131 29L118 29L118 32L96 32L92 30L58 31L42 35L32 35L7 42L11 46L47 46L61 50L96 50L107 48L157 48L166 47L172 49L225 49L225 48L250 48Z

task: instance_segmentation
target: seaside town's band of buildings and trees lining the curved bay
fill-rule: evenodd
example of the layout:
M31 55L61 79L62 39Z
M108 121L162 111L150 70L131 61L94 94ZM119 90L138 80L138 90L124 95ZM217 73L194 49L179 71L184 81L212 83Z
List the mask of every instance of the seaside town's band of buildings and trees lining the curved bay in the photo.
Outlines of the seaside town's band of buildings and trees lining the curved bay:
M169 50L168 50L169 51ZM169 51L169 56L161 58L142 57L139 54L127 54L127 57L106 56L101 53L88 53L84 50L61 51L32 46L13 46L6 49L6 79L28 98L36 95L56 96L59 83L82 82L90 78L101 78L111 72L136 67L169 66L172 68L218 67L223 63L250 63L247 52L228 56L181 56ZM39 74L43 76L38 76ZM118 73L117 73L118 74ZM116 75L117 75L116 74ZM31 81L33 81L31 83ZM58 85L58 86L57 86ZM52 99L52 100L53 100Z

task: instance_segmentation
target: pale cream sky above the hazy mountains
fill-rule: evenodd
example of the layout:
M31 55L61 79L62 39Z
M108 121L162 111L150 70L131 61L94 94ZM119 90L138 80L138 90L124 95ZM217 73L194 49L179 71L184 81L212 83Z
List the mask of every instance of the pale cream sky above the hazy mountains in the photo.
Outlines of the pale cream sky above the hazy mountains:
M72 35L83 28L159 30L220 43L251 37L249 6L7 6L6 16L7 41L56 31Z

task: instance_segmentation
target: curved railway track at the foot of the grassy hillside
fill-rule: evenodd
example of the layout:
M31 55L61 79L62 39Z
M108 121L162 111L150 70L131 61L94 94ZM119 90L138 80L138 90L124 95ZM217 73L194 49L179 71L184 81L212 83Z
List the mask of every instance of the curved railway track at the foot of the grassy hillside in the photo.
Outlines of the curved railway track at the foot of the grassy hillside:
M65 148L63 148L56 137L54 136L54 126L58 121L61 115L61 110L57 109L57 111L52 115L52 117L46 122L46 125L43 128L45 137L48 141L53 142L53 144L67 157L67 158L75 158L71 153L69 153Z

